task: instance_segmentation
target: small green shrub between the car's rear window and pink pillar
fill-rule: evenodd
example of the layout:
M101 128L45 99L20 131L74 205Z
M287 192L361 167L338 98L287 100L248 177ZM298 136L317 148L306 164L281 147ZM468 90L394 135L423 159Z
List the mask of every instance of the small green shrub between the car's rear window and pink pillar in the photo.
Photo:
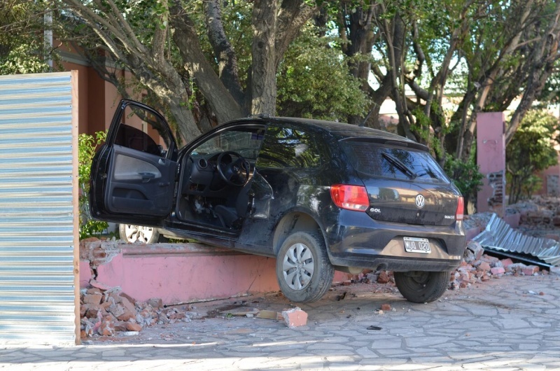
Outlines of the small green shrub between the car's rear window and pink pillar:
M445 172L453 180L455 186L461 191L465 199L465 205L469 200L473 200L482 186L482 178L484 177L479 172L479 167L475 162L474 157L463 162L457 160L452 156L447 158L445 162Z

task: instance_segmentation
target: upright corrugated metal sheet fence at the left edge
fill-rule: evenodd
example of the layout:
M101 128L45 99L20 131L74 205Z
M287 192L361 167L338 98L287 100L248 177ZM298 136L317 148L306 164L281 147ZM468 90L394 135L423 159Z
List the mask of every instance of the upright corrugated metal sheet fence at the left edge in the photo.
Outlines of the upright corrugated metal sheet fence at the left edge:
M0 341L74 344L71 73L0 76Z

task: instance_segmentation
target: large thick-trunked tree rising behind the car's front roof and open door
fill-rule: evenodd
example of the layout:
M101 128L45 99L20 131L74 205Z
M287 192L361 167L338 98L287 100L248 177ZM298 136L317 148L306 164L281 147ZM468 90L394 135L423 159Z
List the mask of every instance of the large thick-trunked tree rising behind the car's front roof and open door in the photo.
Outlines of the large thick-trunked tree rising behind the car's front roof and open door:
M68 39L79 45L102 76L122 87L109 65L124 66L167 106L183 137L206 128L201 113L193 114L199 92L209 114L221 123L252 114L276 111L276 71L288 45L318 11L303 0L254 0L251 3L251 62L239 71L240 56L226 34L218 0L60 0ZM200 10L200 11L197 11ZM201 25L200 14L204 25ZM85 26L85 27L84 27ZM212 55L205 53L205 31ZM102 57L99 61L99 56ZM241 80L240 74L246 78ZM196 91L195 91L196 90ZM195 117L196 116L196 117Z

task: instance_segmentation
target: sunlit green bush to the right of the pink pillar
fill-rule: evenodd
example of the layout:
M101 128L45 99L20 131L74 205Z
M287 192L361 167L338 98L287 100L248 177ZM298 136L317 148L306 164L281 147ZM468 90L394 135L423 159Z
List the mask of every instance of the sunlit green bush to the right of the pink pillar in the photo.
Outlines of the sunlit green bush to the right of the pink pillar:
M506 186L510 204L538 189L534 173L556 165L554 141L558 140L558 120L544 110L529 111L505 150Z

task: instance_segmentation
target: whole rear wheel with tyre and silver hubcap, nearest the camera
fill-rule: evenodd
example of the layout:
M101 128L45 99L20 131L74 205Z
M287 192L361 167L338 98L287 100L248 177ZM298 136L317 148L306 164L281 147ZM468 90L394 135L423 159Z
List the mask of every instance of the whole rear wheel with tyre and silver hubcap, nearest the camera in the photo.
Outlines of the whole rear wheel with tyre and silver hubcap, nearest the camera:
M293 302L321 299L332 285L335 269L325 240L318 232L295 232L276 255L276 277L282 293Z

